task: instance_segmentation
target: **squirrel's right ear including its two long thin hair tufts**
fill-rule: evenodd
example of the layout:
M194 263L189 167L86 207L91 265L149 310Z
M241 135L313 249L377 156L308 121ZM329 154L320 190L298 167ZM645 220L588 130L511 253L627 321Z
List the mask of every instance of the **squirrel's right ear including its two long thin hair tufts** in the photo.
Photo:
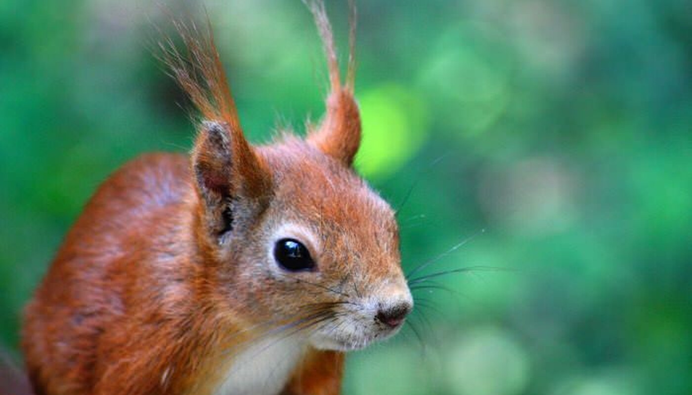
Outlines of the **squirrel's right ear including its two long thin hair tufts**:
M353 164L354 156L356 156L358 147L361 145L361 114L354 99L356 8L353 2L349 4L351 6L349 17L349 62L346 81L342 84L338 60L336 59L334 35L331 33L331 25L327 18L325 4L322 1L307 1L320 37L322 37L322 45L327 55L329 82L331 85L331 93L327 97L325 118L322 119L319 127L309 132L307 140L325 154L336 158L347 166Z

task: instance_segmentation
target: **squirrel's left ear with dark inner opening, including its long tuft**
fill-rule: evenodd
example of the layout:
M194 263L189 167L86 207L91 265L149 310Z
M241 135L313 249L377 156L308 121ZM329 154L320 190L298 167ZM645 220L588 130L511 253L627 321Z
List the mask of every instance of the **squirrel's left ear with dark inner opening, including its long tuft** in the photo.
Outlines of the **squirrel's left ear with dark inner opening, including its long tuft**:
M208 236L250 228L271 198L271 172L240 127L233 95L207 28L173 21L185 43L179 50L172 39L159 44L170 75L188 93L203 119L192 150L192 172L199 196L201 225Z

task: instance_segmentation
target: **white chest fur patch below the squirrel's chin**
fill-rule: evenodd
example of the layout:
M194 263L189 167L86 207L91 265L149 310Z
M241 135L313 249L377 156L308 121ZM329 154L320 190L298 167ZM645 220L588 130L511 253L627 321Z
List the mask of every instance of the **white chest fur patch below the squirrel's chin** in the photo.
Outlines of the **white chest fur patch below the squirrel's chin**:
M233 362L214 395L277 395L304 355L305 341L278 337L258 340Z

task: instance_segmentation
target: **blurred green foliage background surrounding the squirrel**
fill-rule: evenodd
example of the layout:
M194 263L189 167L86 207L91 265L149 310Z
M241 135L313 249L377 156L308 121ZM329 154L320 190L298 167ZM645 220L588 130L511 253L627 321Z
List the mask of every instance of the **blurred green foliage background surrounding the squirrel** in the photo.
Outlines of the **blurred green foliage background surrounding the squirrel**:
M319 118L297 0L205 1L246 131ZM341 48L346 6L329 1ZM172 6L174 12L198 6ZM136 0L0 2L0 334L107 175L185 151L189 105ZM692 393L692 8L684 0L359 2L358 168L400 212L412 328L347 394ZM277 114L280 114L277 115ZM486 232L478 234L482 229ZM18 354L17 354L18 355Z

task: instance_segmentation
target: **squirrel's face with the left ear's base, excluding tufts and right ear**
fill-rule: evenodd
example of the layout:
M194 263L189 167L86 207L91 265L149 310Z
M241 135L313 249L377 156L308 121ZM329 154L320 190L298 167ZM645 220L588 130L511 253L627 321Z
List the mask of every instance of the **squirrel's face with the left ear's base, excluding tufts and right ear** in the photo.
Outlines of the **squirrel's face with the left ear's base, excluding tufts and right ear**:
M242 144L247 151L234 155L227 127L205 125L193 156L208 207L201 244L213 261L206 283L225 312L259 336L285 330L318 349L359 349L396 333L412 297L388 203L311 140Z

